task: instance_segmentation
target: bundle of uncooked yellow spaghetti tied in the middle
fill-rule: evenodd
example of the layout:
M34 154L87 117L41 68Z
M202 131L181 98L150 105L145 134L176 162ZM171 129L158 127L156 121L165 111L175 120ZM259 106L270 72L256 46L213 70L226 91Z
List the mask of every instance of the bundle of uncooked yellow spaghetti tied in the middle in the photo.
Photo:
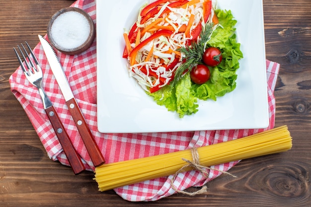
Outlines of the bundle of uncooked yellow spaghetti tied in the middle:
M200 165L227 163L267 154L284 152L292 148L292 137L287 126L262 133L196 148ZM175 174L192 160L193 150L176 151L151 157L108 163L95 168L99 191L130 185L158 177ZM184 171L192 170L189 166Z

